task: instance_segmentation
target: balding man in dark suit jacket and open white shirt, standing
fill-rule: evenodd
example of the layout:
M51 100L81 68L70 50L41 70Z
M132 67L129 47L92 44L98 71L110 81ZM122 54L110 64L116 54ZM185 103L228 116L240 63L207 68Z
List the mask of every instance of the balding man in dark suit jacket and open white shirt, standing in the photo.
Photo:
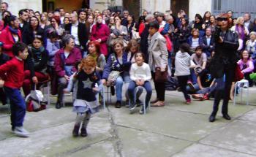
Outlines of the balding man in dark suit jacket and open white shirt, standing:
M65 31L67 34L71 34L75 37L75 46L79 47L82 52L86 51L86 43L88 41L88 32L86 25L84 23L79 23L78 15L76 13L72 13L70 16L71 23L65 26ZM83 54L82 54L83 56Z

